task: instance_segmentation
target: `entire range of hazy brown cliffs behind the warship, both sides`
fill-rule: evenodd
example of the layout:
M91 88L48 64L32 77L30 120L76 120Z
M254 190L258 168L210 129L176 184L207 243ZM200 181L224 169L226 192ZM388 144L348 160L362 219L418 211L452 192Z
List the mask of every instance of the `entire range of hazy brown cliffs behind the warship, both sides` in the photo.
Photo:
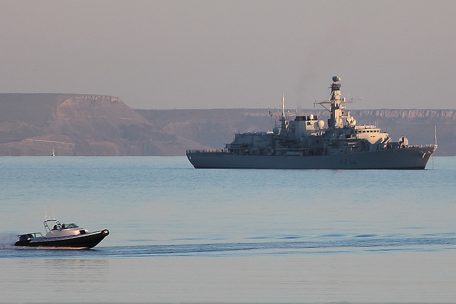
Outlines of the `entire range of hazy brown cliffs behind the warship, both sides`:
M81 94L0 94L0 156L184 155L220 149L236 132L267 131L273 109L133 110L120 98ZM328 118L326 110L301 110ZM377 124L393 140L434 142L456 155L456 110L352 110L358 125Z

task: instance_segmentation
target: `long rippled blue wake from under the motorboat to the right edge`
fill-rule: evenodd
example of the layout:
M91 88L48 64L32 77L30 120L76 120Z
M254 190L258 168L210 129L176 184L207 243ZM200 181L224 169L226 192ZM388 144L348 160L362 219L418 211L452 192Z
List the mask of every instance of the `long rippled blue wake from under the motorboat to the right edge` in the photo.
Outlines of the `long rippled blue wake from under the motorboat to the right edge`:
M456 234L423 236L320 236L306 241L291 239L274 241L246 241L224 243L187 243L170 245L99 246L87 251L57 251L50 248L0 246L0 257L16 258L70 258L75 254L86 257L139 257L139 256L264 256L281 254L337 254L390 251L446 251L456 249ZM17 250L21 249L21 250ZM56 249L56 248L54 248ZM66 248L68 249L68 248ZM30 251L33 250L33 251Z

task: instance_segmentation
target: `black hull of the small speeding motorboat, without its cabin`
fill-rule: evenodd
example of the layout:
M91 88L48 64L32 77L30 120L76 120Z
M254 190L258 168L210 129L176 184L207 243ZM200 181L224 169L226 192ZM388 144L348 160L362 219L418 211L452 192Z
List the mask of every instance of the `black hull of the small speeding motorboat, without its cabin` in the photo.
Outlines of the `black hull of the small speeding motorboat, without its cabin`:
M80 234L78 236L62 236L55 238L27 237L28 234L19 236L19 241L14 246L26 247L63 247L63 248L93 248L108 236L108 229L95 231L90 234Z

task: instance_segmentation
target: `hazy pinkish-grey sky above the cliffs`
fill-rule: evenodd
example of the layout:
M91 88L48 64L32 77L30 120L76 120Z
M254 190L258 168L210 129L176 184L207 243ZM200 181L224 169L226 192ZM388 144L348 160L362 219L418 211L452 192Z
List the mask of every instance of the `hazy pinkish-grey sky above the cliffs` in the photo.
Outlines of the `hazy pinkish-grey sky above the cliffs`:
M0 93L131 108L455 109L456 1L3 1Z

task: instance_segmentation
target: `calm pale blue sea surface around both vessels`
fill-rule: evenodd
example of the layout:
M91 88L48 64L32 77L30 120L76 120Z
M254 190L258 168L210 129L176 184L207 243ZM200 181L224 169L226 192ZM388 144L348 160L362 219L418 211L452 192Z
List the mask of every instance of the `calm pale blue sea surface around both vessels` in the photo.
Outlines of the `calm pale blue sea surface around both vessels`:
M0 303L456 303L456 157L425 170L0 157ZM14 247L57 218L90 250Z

